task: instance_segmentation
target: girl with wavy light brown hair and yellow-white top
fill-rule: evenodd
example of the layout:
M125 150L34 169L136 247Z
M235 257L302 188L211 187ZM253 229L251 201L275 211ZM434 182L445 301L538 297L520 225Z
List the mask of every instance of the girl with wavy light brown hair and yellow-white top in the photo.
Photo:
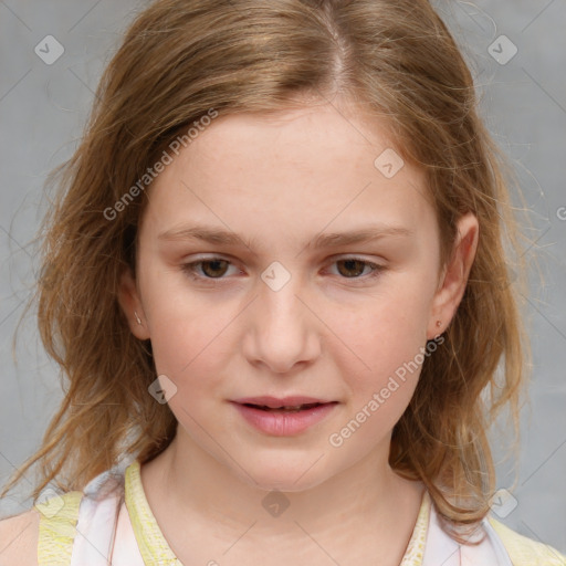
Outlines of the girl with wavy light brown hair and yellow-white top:
M426 0L155 2L61 186L69 388L2 564L566 564L489 515L516 240Z

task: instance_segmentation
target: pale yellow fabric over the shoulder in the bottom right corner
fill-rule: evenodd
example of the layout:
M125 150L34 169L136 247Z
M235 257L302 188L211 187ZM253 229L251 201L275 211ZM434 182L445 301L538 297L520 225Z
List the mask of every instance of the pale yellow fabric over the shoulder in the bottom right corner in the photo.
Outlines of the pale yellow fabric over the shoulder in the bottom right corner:
M514 566L566 566L566 556L556 548L520 535L493 517L489 522Z

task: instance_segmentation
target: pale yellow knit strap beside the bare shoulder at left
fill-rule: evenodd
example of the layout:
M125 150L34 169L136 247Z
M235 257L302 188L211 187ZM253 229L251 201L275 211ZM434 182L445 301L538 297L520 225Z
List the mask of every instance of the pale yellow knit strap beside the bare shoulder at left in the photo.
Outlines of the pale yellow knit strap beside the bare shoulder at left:
M78 521L78 506L83 492L54 494L36 503L40 513L38 541L39 566L69 566Z

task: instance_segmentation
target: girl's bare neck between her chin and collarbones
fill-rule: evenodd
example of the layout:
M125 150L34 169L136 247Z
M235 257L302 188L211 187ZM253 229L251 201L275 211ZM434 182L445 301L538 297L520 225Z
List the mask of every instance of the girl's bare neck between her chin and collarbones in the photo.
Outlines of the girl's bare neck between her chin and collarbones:
M210 525L223 531L226 541L234 541L254 524L247 534L254 544L273 537L304 542L305 532L314 539L342 541L365 528L387 542L401 532L405 549L423 488L390 469L388 448L380 447L308 490L270 492L244 472L242 481L179 429L168 449L142 467L142 478L160 525L169 520L178 525Z

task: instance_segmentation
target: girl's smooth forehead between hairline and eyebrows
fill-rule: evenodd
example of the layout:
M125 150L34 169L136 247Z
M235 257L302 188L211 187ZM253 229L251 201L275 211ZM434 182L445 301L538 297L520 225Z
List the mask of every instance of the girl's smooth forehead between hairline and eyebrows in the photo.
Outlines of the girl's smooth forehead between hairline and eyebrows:
M422 172L402 164L382 123L321 104L212 119L151 186L148 222L213 221L251 237L370 219L412 228L432 213L424 195Z

